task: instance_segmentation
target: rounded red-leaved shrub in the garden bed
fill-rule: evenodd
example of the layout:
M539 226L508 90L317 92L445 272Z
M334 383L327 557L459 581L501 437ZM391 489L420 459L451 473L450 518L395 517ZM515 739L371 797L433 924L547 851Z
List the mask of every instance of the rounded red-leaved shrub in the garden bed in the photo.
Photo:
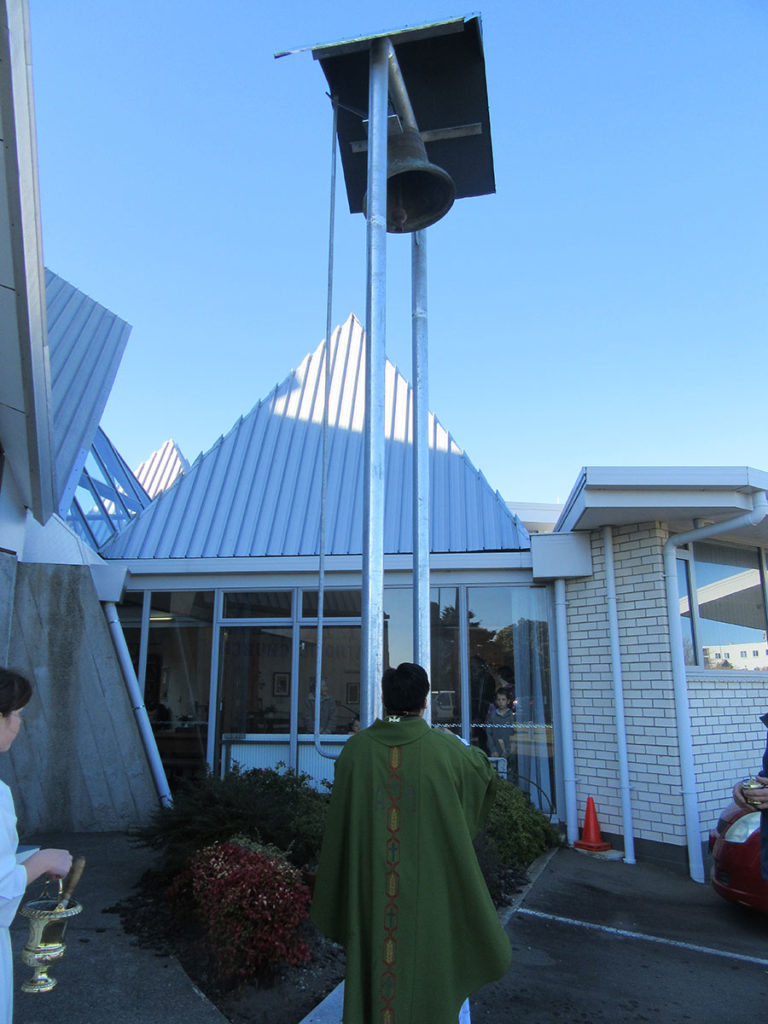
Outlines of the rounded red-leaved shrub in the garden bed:
M300 935L309 890L282 857L215 843L191 857L188 879L222 982L264 979L278 964L309 958Z

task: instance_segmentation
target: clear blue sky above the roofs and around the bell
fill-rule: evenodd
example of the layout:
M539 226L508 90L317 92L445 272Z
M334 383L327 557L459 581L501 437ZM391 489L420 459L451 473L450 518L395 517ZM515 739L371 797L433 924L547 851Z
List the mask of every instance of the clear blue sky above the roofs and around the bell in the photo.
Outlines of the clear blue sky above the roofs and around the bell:
M194 459L322 340L331 111L282 49L425 0L30 0L46 264L133 325L103 426ZM768 5L488 0L497 194L429 230L430 408L505 499L768 469ZM334 323L365 319L341 196ZM387 352L411 377L410 240Z

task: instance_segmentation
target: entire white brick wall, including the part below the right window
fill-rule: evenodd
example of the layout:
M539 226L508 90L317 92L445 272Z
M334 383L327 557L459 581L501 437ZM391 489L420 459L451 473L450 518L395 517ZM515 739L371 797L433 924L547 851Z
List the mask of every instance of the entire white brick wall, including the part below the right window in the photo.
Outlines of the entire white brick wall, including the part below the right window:
M613 529L627 749L635 836L686 845L663 548L667 529ZM579 820L593 797L600 827L622 834L616 724L602 532L591 538L594 575L567 584L568 647ZM760 767L768 676L688 673L701 839L731 787Z

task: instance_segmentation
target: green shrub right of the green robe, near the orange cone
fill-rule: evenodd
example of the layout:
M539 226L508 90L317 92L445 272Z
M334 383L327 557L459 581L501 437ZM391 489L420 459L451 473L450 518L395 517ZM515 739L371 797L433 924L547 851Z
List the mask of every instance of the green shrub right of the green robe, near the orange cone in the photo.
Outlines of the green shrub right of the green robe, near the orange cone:
M506 867L526 868L540 854L559 846L560 834L511 782L499 780L496 803L488 814L483 837Z

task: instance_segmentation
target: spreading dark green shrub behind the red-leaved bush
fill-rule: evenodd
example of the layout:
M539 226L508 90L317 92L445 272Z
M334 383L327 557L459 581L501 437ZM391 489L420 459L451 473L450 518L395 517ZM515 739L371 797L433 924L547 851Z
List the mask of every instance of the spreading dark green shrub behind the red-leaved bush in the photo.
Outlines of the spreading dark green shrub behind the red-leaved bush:
M159 808L134 835L163 851L170 873L181 870L197 850L233 836L276 847L304 867L319 852L328 800L303 773L236 765L223 778L209 772L185 782L173 805Z

